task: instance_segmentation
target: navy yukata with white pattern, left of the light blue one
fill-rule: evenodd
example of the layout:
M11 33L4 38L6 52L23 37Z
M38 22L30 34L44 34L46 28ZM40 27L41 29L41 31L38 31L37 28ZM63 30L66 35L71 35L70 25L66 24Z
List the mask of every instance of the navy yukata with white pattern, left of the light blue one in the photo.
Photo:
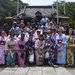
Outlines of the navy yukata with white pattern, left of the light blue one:
M54 41L51 38L47 39L45 47L46 47L45 55L46 53L49 54L48 58L45 58L46 64L53 65L54 64L54 50L56 49ZM47 48L49 48L49 51L47 51Z

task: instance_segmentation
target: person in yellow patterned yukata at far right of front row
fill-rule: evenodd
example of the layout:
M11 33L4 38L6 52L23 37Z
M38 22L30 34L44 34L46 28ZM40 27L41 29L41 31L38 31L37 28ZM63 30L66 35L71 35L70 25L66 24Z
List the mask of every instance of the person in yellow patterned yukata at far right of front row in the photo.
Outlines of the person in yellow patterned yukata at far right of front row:
M73 36L72 29L69 30L69 35L67 36L67 41L68 41L68 45L74 44L74 36ZM67 47L68 47L68 45L67 45ZM69 66L74 65L74 49L70 48L70 47L67 48L67 64Z

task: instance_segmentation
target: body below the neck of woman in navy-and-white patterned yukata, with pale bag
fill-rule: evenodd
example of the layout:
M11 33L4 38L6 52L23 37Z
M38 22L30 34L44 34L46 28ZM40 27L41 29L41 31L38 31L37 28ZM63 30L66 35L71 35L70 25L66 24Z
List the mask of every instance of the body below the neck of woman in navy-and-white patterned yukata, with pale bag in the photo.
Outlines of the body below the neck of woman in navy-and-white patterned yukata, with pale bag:
M45 50L45 64L53 66L54 65L54 49L55 45L52 40L48 39L46 43L46 50Z

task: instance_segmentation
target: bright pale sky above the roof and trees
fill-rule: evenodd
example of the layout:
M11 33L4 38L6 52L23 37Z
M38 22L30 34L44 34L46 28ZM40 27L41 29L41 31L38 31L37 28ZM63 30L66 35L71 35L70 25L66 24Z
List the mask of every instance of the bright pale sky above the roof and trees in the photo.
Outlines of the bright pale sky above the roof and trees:
M29 5L51 5L56 0L21 0ZM58 0L60 1L60 0ZM75 0L65 0L66 2L75 2Z

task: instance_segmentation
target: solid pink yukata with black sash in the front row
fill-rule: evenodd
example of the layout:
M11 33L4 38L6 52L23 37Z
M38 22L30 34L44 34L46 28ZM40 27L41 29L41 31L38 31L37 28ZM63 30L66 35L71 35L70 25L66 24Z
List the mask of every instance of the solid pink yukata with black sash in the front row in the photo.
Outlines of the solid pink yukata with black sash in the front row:
M23 40L21 40L21 39L19 39L17 42L16 42L16 46L15 46L15 50L17 51L17 54L18 54L18 62L19 62L19 65L21 66L21 67L23 67L24 65L25 65L25 41ZM24 46L24 48L23 49L20 49L20 47L19 47L19 45L23 45ZM24 51L23 53L24 53L24 58L22 58L21 57L21 51Z

